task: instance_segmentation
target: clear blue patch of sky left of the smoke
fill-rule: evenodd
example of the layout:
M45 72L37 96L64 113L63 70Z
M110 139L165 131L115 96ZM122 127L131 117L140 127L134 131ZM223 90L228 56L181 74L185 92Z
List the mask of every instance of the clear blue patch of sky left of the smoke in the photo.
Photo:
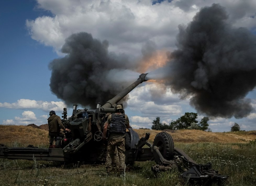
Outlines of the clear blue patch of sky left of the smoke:
M52 47L31 39L26 20L49 15L36 9L35 1L0 2L0 102L13 103L19 99L58 100L49 90L51 71L48 63L58 55ZM23 110L0 108L1 122L14 116L22 117ZM34 110L41 113L40 110ZM47 114L41 113L41 114Z

